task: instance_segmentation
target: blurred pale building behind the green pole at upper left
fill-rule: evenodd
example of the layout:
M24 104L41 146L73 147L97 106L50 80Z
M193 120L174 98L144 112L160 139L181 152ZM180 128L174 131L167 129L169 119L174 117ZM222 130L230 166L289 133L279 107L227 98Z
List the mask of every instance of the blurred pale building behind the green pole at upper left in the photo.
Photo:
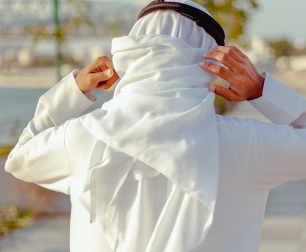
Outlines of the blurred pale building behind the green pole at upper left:
M99 55L110 56L112 37L126 35L140 9L124 1L88 0L86 3L93 25L74 27L62 45L62 53L82 65ZM33 46L33 36L27 33L27 27L38 24L53 32L54 9L52 0L0 0L0 66L7 69L29 67L54 58L55 40L40 40ZM77 15L71 11L71 4L63 0L59 0L58 14L61 22L75 22L73 17Z

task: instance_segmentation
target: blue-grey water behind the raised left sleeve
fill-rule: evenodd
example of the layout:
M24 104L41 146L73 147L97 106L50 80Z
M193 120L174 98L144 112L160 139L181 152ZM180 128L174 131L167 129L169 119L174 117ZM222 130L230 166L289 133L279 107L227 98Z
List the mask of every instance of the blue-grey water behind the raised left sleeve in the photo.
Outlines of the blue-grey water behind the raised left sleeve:
M39 98L48 89L0 87L0 145L15 144L33 118ZM97 101L84 113L100 108L113 97L109 91L94 90Z

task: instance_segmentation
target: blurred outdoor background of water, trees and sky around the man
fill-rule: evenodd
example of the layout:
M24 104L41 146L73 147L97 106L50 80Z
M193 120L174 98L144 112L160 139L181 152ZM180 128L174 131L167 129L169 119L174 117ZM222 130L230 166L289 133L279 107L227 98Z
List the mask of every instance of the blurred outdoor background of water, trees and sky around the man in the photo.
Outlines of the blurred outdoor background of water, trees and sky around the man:
M69 197L13 178L4 163L39 97L73 69L111 57L112 38L127 35L149 2L0 0L0 251L69 251ZM195 2L222 25L226 44L306 97L306 1ZM111 99L112 91L96 92L91 109ZM217 98L216 109L267 121L247 103ZM305 195L304 180L270 192L261 252L306 251Z

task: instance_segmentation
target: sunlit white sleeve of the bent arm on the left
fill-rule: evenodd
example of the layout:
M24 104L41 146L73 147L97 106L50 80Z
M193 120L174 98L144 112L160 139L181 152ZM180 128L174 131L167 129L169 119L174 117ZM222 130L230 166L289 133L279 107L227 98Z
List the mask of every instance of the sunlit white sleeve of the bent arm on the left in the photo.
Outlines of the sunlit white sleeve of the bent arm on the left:
M78 88L74 74L75 71L39 99L34 118L5 164L6 171L18 179L67 194L70 171L65 157L66 124L63 123L78 117L95 101L92 92L84 95Z

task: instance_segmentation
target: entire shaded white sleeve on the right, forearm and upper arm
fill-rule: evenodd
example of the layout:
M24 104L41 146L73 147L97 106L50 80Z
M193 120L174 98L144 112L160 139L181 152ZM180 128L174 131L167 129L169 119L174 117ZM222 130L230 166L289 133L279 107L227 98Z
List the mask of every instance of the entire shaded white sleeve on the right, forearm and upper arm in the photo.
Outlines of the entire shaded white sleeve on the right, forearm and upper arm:
M271 189L306 178L306 100L266 74L262 97L249 103L273 123L281 124L256 123L261 185Z

